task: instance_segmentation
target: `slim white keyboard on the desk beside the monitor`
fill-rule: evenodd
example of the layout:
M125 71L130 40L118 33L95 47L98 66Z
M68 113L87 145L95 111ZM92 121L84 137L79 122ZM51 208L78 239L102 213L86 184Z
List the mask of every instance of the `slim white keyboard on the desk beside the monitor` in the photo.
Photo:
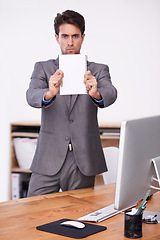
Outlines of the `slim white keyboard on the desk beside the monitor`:
M95 212L89 213L86 216L78 218L80 221L86 221L86 222L101 222L107 218L110 218L112 216L115 216L122 211L114 209L114 204L111 204L107 207L104 207L102 209L99 209Z

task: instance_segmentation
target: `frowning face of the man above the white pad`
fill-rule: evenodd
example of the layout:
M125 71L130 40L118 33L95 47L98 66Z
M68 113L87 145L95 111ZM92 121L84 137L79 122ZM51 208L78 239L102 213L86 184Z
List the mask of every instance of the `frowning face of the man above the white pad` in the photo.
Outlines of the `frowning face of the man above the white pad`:
M62 54L79 54L84 36L77 26L68 23L60 25L59 35L55 35Z

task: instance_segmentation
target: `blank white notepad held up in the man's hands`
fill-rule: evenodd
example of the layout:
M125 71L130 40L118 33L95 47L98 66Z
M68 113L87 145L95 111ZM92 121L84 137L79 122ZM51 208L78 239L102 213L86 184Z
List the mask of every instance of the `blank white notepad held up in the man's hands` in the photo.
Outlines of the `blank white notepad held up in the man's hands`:
M87 56L84 54L59 55L59 69L63 71L63 87L60 95L87 94L84 74L87 71Z

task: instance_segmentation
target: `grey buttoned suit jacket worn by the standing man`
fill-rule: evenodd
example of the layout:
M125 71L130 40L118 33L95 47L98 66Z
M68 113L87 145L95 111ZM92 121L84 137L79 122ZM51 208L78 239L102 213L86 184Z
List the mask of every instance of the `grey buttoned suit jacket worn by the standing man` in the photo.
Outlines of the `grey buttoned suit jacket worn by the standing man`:
M49 88L49 78L59 68L58 59L38 62L27 90L32 107L42 108L41 128L36 153L31 165L33 172L54 175L62 167L71 139L76 163L87 176L107 171L97 122L97 104L88 95L73 95L70 107L67 96L57 95L47 106L43 95ZM114 103L117 90L112 85L108 66L88 62L98 82L104 107Z

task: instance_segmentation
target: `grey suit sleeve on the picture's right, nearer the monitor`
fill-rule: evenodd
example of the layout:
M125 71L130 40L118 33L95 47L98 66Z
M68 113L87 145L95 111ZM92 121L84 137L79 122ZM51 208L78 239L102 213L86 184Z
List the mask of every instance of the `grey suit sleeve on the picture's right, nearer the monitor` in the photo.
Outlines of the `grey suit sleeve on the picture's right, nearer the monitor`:
M102 65L102 68L97 76L98 91L100 92L104 106L108 107L117 99L117 89L112 85L109 68L107 65Z

